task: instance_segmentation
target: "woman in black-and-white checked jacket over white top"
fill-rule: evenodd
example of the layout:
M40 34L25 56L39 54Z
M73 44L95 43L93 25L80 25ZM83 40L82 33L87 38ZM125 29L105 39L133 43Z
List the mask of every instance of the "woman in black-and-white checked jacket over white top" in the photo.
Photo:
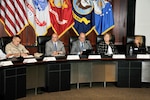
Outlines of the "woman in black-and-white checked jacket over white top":
M110 41L112 35L110 33L106 33L104 35L104 41L98 44L97 53L101 55L112 55L116 54L117 49L115 45Z

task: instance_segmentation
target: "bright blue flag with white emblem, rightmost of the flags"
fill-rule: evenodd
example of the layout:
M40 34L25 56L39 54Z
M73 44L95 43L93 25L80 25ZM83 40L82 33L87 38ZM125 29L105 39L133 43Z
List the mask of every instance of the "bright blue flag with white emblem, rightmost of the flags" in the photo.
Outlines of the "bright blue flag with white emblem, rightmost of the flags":
M105 0L94 0L94 25L98 35L105 34L114 28L112 5Z

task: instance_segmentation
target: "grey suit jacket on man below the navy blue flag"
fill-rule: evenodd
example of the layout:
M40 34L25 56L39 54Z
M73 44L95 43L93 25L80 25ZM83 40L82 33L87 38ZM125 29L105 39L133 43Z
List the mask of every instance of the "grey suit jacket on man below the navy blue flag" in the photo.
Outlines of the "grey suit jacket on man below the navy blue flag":
M91 46L91 43L90 43L89 40L85 40L84 49L92 49L92 46ZM80 46L80 41L79 40L74 41L73 44L72 44L70 54L78 54L81 51L82 51L82 49L81 49L81 46Z

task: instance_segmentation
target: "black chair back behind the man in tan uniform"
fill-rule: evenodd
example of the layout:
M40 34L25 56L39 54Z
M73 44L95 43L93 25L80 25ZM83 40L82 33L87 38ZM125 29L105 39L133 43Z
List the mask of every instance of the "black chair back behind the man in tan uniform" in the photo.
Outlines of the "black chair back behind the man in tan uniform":
M5 52L5 46L12 41L12 37L1 37L1 49Z

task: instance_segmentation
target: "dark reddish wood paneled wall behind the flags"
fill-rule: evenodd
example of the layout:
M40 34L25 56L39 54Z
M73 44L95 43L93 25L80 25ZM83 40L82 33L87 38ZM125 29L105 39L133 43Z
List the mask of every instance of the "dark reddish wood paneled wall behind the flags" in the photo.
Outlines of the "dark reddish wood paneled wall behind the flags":
M127 1L128 0L111 0L113 5L115 28L111 30L111 33L115 35L115 44L122 45L126 38L127 30ZM48 30L47 36L50 36L53 30L50 28ZM0 23L0 37L8 36L4 30L4 26ZM69 53L69 37L76 36L74 31L70 29L67 31L60 40L64 42L67 53ZM36 45L36 35L31 26L27 26L25 30L20 34L22 38L22 44L26 46ZM95 49L96 44L96 34L92 31L88 36L91 41L92 46ZM30 50L31 53L36 52L36 50Z

